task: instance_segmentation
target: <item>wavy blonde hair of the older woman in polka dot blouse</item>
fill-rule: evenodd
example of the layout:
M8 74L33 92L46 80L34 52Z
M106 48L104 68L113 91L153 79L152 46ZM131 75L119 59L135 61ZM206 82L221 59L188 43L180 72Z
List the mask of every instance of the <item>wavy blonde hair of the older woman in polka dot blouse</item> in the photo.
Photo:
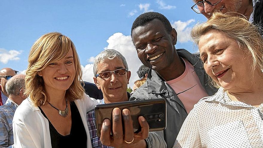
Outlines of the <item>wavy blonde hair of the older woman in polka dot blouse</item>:
M195 25L191 31L191 37L198 45L202 35L215 30L235 39L239 48L253 60L251 68L254 72L256 69L263 69L263 40L259 29L259 26L248 22L245 16L237 16L237 13L215 12L207 22ZM210 82L213 86L220 87L211 77Z

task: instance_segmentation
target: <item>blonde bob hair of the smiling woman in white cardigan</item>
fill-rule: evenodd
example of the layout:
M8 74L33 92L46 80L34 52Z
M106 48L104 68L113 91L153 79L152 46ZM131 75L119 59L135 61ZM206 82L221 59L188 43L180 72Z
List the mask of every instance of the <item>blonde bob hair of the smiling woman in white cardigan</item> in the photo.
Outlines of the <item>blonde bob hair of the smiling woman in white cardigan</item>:
M44 87L44 80L38 73L50 63L63 59L70 48L73 50L76 75L65 96L70 102L82 98L84 93L80 83L82 82L82 70L76 48L67 36L58 32L51 32L36 40L31 47L28 57L29 64L25 77L25 94L30 96L34 105L42 106L49 102L49 96Z

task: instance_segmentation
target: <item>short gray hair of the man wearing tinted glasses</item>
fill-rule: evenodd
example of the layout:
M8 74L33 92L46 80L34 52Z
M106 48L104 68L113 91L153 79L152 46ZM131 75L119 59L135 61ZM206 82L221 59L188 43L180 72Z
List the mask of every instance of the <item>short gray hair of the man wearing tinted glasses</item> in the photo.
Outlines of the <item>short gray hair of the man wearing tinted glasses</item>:
M106 59L114 59L114 58L118 58L118 59L122 60L126 71L129 70L125 57L123 57L123 55L119 51L116 51L114 49L106 49L106 50L100 52L94 59L94 63L93 63L94 77L96 77L96 74L98 72L98 64L99 63L104 62Z

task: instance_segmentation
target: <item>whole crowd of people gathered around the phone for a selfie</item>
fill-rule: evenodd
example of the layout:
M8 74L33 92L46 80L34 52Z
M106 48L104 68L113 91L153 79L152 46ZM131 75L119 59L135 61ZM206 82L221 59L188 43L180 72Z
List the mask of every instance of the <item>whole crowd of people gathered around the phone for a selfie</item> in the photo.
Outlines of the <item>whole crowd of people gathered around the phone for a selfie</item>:
M0 147L263 147L263 2L194 0L208 20L192 29L199 52L176 49L177 32L158 12L131 28L142 62L133 92L125 57L107 49L94 59L94 83L82 81L74 43L58 32L32 45L24 74L0 70ZM166 129L134 133L129 109L112 111L97 136L94 107L166 100Z

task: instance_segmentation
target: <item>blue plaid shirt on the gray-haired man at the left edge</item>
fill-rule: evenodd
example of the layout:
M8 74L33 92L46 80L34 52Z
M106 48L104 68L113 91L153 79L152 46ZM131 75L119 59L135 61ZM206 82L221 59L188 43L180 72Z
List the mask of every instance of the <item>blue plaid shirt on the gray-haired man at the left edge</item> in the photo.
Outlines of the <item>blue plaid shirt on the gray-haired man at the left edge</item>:
M14 144L12 120L17 104L10 99L0 106L0 147L12 148Z

